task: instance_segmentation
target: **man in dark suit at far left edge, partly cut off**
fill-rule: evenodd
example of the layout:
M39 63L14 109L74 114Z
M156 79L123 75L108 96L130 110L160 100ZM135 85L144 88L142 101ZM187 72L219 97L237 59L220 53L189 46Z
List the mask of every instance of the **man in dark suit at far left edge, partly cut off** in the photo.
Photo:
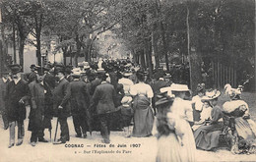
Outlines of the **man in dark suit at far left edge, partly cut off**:
M10 81L9 78L10 78L9 73L5 72L3 74L2 79L0 79L0 110L1 110L2 119L4 122L4 130L7 130L9 126L9 123L7 120L6 101L4 99L6 95L6 86L7 86L7 83Z

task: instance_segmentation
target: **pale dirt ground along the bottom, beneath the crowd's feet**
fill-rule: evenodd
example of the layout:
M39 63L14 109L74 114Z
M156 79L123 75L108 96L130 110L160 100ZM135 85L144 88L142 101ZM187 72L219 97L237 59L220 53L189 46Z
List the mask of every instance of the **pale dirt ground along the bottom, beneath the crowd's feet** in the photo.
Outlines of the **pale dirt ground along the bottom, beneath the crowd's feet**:
M251 117L256 121L256 93L246 93L243 99L249 104ZM226 97L222 95L220 105L224 103ZM29 109L29 108L28 108ZM2 120L0 129L0 162L90 162L90 161L120 161L120 162L154 162L157 154L158 141L156 138L156 125L151 137L131 137L125 138L123 132L111 132L111 145L102 145L98 132L88 135L88 138L75 137L72 118L68 119L70 130L70 141L66 145L53 145L52 143L36 143L35 147L30 144L31 132L28 132L28 119L25 121L25 139L21 146L8 148L9 131L4 131ZM52 125L56 126L56 119ZM48 131L45 130L45 138L49 140ZM59 133L59 131L58 131ZM54 135L54 131L52 136ZM57 135L59 137L59 134ZM119 146L122 147L117 147ZM76 146L76 147L73 147ZM105 147L104 147L105 146ZM106 152L108 151L108 152ZM256 161L255 155L239 154L233 155L230 151L221 148L216 152L196 151L196 161Z

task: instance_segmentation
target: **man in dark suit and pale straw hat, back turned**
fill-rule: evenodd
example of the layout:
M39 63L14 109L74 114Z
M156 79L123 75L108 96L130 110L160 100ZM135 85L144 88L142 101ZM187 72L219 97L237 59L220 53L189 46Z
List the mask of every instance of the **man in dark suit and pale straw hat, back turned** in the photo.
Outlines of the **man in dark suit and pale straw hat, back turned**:
M90 94L87 89L87 83L85 81L80 81L79 74L74 74L72 77L74 80L70 82L70 104L73 124L77 137L82 137L82 133L83 137L87 137L87 125L90 125Z

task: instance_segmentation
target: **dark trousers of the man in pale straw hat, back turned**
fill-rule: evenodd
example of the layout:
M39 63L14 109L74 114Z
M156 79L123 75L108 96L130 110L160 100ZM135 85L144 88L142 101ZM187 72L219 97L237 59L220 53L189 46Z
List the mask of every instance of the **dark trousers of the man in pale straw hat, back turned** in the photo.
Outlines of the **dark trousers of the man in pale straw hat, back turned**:
M77 135L87 134L87 118L85 113L73 114L73 124ZM82 130L82 133L81 133Z

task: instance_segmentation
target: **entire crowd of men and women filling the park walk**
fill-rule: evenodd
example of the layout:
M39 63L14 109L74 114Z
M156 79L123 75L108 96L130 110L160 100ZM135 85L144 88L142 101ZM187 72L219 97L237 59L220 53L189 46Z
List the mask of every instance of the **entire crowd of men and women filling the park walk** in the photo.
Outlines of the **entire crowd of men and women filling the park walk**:
M26 106L30 106L31 144L48 142L44 130L52 130L57 117L60 138L70 140L67 118L72 116L76 137L100 131L103 143L110 143L111 130L123 130L125 137L152 135L155 116L158 128L157 161L195 161L195 150L215 150L220 141L230 141L233 153L256 151L256 125L249 107L241 99L241 87L224 86L230 100L218 104L221 91L198 84L191 96L187 84L173 83L162 68L149 78L147 70L129 61L82 62L78 67L62 64L10 65L0 81L4 129L10 130L9 148L23 143Z

